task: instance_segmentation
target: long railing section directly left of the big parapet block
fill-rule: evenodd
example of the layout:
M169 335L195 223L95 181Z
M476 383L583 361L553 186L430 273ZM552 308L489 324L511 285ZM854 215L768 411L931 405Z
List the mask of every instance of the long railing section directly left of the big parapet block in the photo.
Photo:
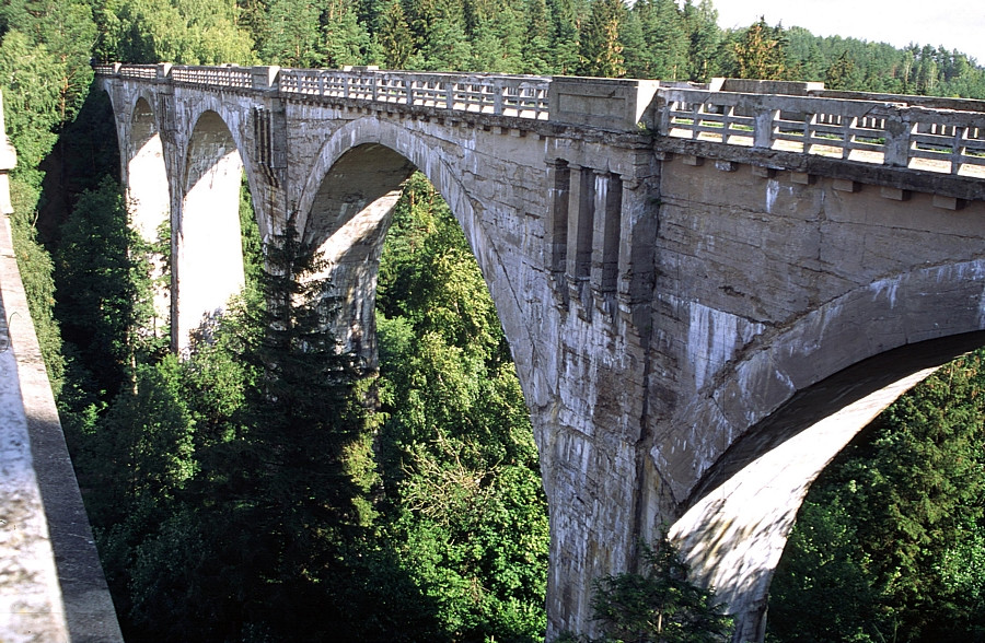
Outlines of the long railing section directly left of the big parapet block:
M355 98L546 120L551 79L526 75L281 69L283 94Z

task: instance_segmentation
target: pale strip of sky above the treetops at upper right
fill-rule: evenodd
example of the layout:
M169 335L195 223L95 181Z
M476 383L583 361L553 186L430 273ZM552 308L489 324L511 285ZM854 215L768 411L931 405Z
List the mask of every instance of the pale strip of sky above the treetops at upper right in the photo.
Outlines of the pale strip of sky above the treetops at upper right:
M985 0L712 0L722 28L802 26L818 36L845 36L905 47L943 45L985 65ZM697 2L695 2L697 4Z

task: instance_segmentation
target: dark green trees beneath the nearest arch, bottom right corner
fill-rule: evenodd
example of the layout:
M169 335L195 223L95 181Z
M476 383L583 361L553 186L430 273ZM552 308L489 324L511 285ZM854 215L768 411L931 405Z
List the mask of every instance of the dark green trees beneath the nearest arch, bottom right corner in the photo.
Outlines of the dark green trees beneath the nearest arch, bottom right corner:
M900 398L814 483L777 570L778 640L807 640L796 634L804 605L830 616L806 630L812 641L982 635L985 576L969 572L985 534L983 356L959 359ZM831 592L835 584L850 595Z

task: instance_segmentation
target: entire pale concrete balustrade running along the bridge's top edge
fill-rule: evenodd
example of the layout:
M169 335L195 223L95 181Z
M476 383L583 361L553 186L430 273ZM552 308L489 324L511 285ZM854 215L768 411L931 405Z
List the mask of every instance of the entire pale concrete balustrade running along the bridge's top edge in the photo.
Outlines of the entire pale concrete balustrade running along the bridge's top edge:
M552 79L544 77L118 63L99 65L95 71L177 84L271 90L287 98L341 98L552 118ZM621 87L626 84L611 82L622 83ZM985 110L928 107L905 96L816 95L822 93L810 87L801 95L729 92L671 83L659 86L647 119L654 124L654 133L672 138L950 174L985 174ZM605 101L586 105L606 109ZM619 122L626 120L621 118ZM626 121L624 127L630 130L636 125Z

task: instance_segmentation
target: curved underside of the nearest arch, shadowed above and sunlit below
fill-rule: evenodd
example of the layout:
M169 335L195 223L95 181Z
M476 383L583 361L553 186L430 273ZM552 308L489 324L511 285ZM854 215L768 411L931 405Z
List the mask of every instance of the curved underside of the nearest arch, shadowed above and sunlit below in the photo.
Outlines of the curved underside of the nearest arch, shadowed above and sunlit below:
M985 346L985 331L865 359L797 391L737 440L682 505L670 534L695 577L762 640L769 583L810 484L859 431L935 370Z

